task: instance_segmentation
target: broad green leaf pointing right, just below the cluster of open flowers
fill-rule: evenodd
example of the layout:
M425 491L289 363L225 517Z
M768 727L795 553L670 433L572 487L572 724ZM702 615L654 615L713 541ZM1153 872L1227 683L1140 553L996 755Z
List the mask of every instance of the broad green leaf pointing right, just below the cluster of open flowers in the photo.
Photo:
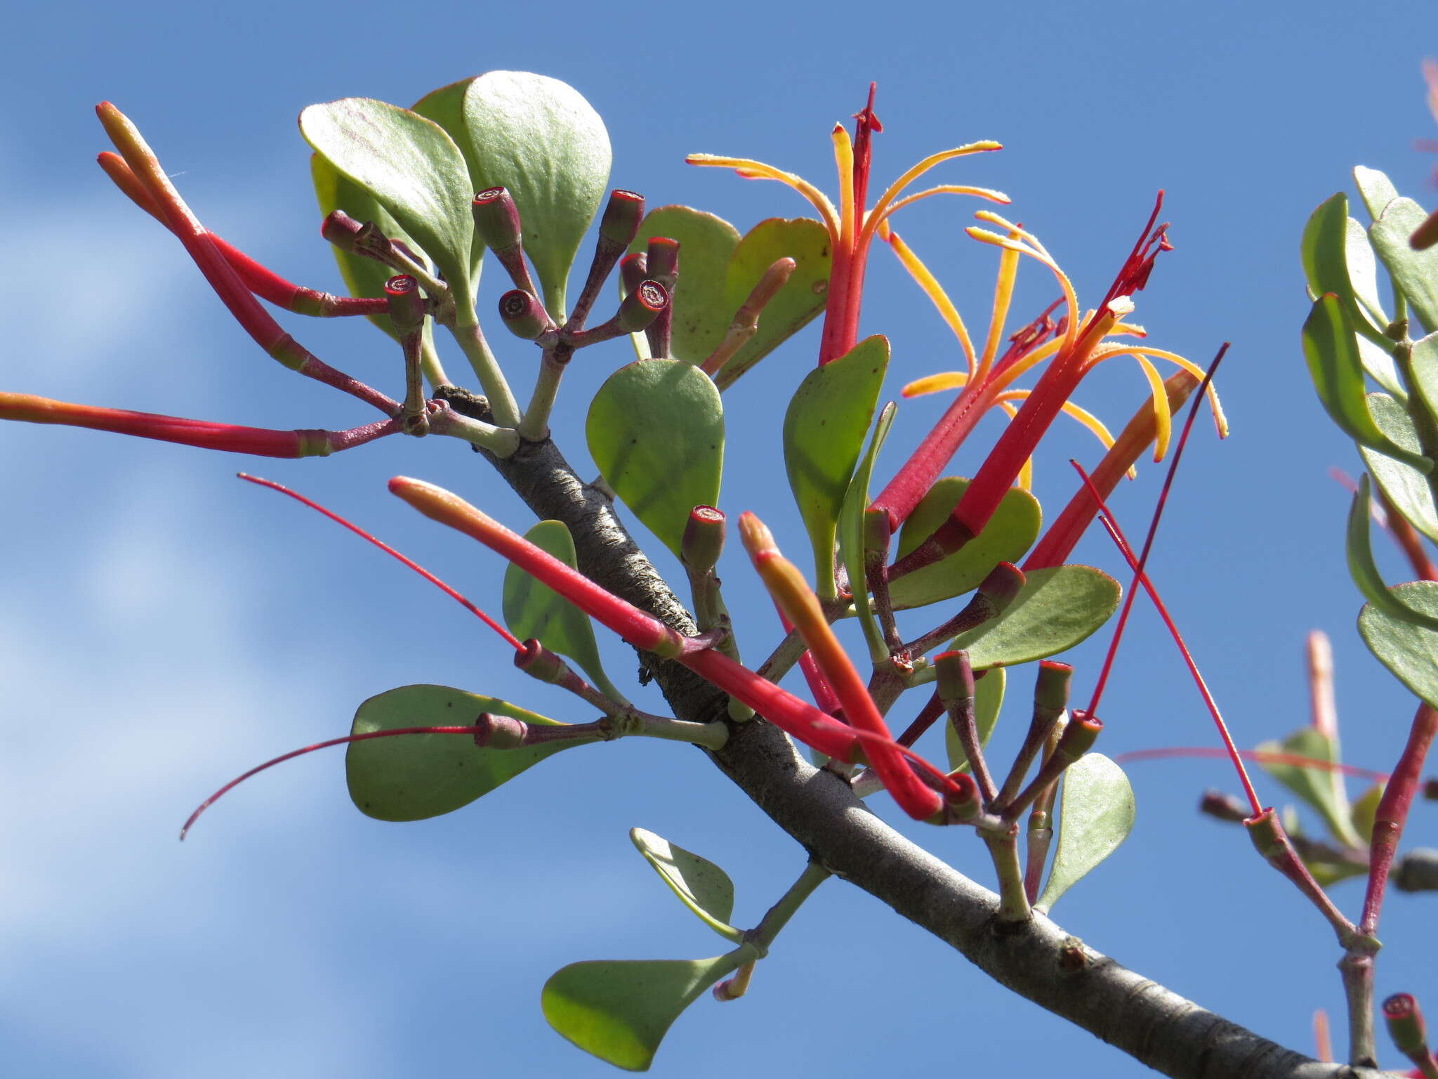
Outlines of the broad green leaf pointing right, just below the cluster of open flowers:
M961 633L975 670L1053 656L1086 640L1119 607L1123 588L1091 565L1050 565L1028 574L1001 616Z

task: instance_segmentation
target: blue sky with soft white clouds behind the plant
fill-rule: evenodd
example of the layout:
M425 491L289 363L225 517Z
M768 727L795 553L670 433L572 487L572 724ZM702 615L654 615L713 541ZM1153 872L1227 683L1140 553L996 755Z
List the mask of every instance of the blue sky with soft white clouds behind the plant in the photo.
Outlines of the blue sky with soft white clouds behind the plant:
M0 190L13 270L0 386L115 407L270 427L370 419L260 355L178 245L109 187L93 165L105 142L91 111L106 98L141 125L210 227L318 288L338 288L338 276L316 235L298 111L349 95L410 104L496 68L578 88L608 125L613 184L741 229L804 207L777 186L689 168L683 155L752 155L833 188L828 128L877 79L886 131L876 178L932 150L1002 141L1002 154L945 178L1008 191L1080 296L1107 285L1165 188L1176 250L1139 298L1137 318L1156 344L1199 361L1234 342L1222 377L1234 434L1217 445L1199 427L1155 580L1241 744L1304 722L1303 634L1322 627L1334 639L1347 760L1396 760L1412 702L1353 632L1347 498L1327 472L1359 463L1322 414L1299 354L1297 240L1311 207L1350 186L1353 164L1383 168L1401 191L1432 201L1434 163L1411 145L1432 134L1419 78L1425 50L1438 49L1431 6L1372 3L1359 14L1326 0L1045 0L817 13L743 0L722 12L598 13L564 0L528 16L449 3L404 16L371 3L223 13L60 4L23 7L7 29ZM916 207L900 230L982 324L992 259L962 236L972 209ZM485 295L498 295L498 278L486 275ZM1025 295L1037 304L1048 288L1034 276ZM388 342L367 327L286 325L361 377L393 371ZM956 363L932 308L883 253L864 332L894 342L890 397ZM531 363L499 345L515 370ZM794 550L797 514L769 483L781 409L812 347L810 331L728 399L722 505L759 512ZM628 358L618 344L595 351L567 378L554 424L585 472L587 394ZM1122 423L1142 380L1132 368L1102 375L1080 400ZM516 381L523 397L526 381ZM906 406L890 470L940 407ZM1040 460L1045 504L1071 491L1061 463L1070 453L1097 456L1087 436L1055 429ZM316 754L247 784L177 844L210 790L348 731L355 705L391 686L456 685L559 718L569 708L516 676L467 614L319 518L236 483L237 468L352 515L492 610L498 561L417 518L383 482L408 473L444 483L515 527L528 525L525 511L463 446L436 439L256 468L91 432L0 426L0 460L7 1073L611 1075L548 1030L544 980L575 960L713 948L633 852L627 829L649 827L723 865L738 883L736 916L749 924L801 869L798 847L692 751L631 742L561 755L469 810L407 826L362 817L345 796L341 754ZM965 468L972 459L955 466ZM1116 499L1130 531L1155 489L1150 468ZM1097 540L1077 557L1117 568ZM772 620L738 547L725 577L758 652ZM1081 689L1102 643L1106 634L1074 656ZM607 655L615 678L628 673L624 649ZM1110 754L1215 744L1142 604L1104 718ZM1018 727L1009 716L1001 744ZM1313 1010L1340 1021L1339 952L1240 830L1194 811L1204 787L1235 787L1225 768L1135 764L1133 836L1055 916L1201 1004L1311 1050ZM1265 800L1283 801L1276 784L1261 784ZM894 819L892 804L879 809ZM1409 840L1432 843L1435 823L1418 804ZM912 834L989 883L969 836ZM1356 914L1359 883L1334 895ZM1380 994L1431 991L1429 909L1391 898ZM1142 1070L840 882L805 906L749 997L718 1009L705 1000L676 1024L656 1075L837 1078L894 1059L917 1072L956 1057L981 1070Z

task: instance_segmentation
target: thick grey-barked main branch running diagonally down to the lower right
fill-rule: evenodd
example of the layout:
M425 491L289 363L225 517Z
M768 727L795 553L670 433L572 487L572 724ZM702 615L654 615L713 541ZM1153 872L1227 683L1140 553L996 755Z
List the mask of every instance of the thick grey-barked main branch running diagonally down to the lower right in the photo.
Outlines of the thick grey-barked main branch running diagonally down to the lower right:
M452 399L462 411L469 401ZM469 407L466 407L469 406ZM475 409L477 411L477 409ZM581 571L683 633L695 626L614 514L552 442L525 443L499 475L541 518L574 534ZM643 655L674 715L726 716L726 698L686 668ZM1012 931L998 896L876 817L833 773L811 767L775 727L733 724L713 762L835 876L959 951L995 981L1175 1079L1376 1079L1380 1072L1320 1063L1185 1000L1094 951L1043 915Z

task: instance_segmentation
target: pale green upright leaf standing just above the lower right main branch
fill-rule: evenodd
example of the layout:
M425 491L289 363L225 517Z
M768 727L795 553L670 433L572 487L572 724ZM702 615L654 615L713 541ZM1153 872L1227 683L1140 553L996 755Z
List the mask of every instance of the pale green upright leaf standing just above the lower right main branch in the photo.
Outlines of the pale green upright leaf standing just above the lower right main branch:
M1058 849L1044 893L1034 906L1050 911L1133 830L1133 788L1123 768L1102 752L1080 757L1064 770L1058 807Z

